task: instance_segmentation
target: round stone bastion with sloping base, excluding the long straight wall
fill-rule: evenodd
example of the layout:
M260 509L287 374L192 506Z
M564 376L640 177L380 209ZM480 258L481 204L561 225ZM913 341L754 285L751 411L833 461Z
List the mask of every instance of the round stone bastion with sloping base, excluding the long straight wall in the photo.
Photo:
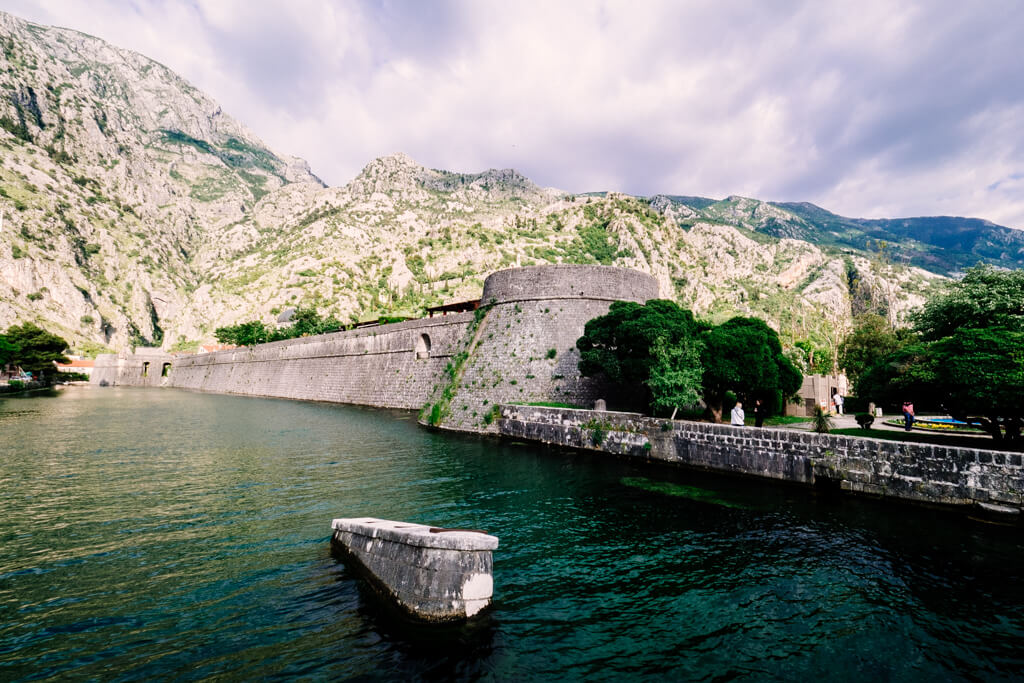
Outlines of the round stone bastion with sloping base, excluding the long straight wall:
M644 302L657 295L650 275L610 266L532 266L492 274L483 285L485 313L471 331L475 338L466 340L468 357L438 426L495 432L487 415L497 403L590 407L606 397L602 386L580 376L577 340L612 301ZM548 357L552 349L554 357ZM443 388L432 402L444 403Z

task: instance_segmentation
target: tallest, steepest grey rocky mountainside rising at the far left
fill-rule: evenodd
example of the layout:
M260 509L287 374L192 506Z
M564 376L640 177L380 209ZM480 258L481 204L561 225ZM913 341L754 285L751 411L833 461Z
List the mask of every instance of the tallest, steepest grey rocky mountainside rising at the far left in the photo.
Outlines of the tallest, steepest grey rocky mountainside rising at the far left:
M323 183L167 68L0 13L0 324L160 343L256 204Z

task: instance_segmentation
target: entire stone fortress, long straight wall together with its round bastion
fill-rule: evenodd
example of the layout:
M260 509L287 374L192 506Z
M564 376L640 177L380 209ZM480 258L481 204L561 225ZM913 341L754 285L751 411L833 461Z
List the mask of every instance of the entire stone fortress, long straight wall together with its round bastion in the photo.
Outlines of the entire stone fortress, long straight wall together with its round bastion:
M443 408L437 426L494 432L494 421L484 418L496 403L589 405L609 398L601 386L580 377L575 342L587 322L606 313L612 301L644 302L657 295L657 281L626 268L514 268L486 279L483 306L475 313L201 355L139 349L100 356L92 382L380 408L430 403ZM418 357L424 336L430 350ZM454 382L444 372L450 361L457 369ZM166 377L164 362L171 364Z

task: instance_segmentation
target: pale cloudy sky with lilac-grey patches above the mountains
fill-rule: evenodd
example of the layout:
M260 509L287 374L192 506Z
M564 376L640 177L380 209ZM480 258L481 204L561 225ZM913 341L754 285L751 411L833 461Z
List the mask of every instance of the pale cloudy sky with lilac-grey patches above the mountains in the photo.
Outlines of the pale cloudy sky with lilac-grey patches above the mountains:
M404 152L570 191L1024 228L1016 0L0 0L137 50L330 184Z

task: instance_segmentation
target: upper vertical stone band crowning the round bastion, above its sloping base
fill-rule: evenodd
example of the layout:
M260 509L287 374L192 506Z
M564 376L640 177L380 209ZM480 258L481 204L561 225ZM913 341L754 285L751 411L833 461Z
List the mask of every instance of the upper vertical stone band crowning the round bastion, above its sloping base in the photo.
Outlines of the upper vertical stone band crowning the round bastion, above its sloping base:
M483 281L480 303L540 299L597 299L644 303L658 296L657 281L610 265L529 265L499 270Z

